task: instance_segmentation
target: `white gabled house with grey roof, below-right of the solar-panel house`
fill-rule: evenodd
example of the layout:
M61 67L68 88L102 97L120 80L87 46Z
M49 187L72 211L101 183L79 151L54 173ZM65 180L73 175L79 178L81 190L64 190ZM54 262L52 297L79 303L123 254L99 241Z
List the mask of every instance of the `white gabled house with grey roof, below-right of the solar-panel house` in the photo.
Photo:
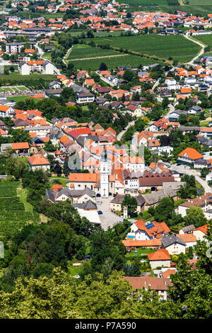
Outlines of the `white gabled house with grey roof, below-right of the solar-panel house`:
M186 243L175 235L163 237L161 243L164 249L167 249L169 254L180 254L186 251Z

